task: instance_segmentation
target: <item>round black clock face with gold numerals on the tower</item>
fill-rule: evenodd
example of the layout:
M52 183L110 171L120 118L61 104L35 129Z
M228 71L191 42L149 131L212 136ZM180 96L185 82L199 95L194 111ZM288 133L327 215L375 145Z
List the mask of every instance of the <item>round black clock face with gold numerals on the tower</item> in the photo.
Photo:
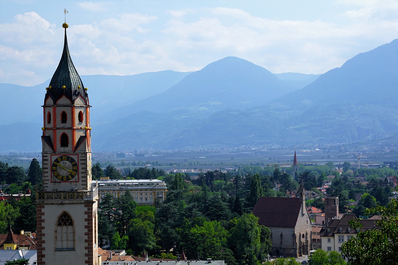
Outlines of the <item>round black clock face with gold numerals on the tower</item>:
M72 156L58 156L53 158L51 171L59 181L71 181L78 173L78 164Z

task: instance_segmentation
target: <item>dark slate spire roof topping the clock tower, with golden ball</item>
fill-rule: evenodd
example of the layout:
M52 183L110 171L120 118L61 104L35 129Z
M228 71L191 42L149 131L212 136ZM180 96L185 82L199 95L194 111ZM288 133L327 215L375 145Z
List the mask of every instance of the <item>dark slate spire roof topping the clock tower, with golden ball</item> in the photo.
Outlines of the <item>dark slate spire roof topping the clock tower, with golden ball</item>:
M62 27L65 29L64 50L62 51L57 70L55 70L53 78L51 78L46 98L50 96L55 103L62 95L66 95L66 97L74 103L74 100L79 97L79 95L82 95L88 103L87 92L70 58L68 41L66 39L66 28L68 24L64 23Z

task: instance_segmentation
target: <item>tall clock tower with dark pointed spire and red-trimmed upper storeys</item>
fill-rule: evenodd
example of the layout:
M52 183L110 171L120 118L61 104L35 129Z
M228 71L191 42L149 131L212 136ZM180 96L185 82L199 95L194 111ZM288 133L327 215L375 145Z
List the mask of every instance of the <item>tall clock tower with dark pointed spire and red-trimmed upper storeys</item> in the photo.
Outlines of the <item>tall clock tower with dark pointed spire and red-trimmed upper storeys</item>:
M37 264L98 261L98 189L91 178L90 105L70 58L62 57L43 107L43 189L37 192ZM95 186L95 185L94 185Z

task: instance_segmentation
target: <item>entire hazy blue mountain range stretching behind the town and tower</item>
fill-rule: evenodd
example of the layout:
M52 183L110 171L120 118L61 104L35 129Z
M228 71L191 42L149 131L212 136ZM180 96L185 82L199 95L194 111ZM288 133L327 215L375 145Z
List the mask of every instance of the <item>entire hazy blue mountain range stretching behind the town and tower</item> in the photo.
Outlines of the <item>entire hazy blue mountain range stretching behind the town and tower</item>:
M272 74L226 57L197 72L81 78L97 151L337 144L398 135L397 39L322 75ZM1 151L41 149L48 82L0 84Z

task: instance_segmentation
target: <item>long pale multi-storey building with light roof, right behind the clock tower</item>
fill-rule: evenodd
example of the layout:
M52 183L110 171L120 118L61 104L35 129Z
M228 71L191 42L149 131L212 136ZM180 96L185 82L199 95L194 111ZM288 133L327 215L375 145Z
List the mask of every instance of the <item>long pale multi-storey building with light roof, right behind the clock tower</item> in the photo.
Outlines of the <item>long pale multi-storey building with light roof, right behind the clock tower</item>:
M166 199L166 183L159 179L101 179L96 185L98 185L100 203L107 193L119 198L127 191L131 193L138 205L154 205L156 198L160 202Z

